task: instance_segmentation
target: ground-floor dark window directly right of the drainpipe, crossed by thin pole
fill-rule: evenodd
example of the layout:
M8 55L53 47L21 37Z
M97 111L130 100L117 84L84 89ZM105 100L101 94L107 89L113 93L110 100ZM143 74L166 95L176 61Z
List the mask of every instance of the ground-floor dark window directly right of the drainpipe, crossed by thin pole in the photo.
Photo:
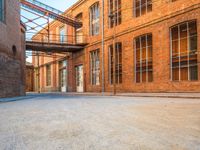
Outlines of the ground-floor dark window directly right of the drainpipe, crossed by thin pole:
M113 73L114 73L114 66L113 66L113 58L114 50L113 45L109 46L109 82L113 84ZM122 43L115 44L115 83L120 84L122 83Z

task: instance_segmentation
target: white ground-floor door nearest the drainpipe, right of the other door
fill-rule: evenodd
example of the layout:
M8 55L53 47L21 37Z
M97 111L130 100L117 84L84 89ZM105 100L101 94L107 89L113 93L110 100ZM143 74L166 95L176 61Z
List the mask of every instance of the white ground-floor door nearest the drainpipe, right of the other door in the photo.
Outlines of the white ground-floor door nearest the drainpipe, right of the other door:
M76 67L76 91L83 92L83 65Z

